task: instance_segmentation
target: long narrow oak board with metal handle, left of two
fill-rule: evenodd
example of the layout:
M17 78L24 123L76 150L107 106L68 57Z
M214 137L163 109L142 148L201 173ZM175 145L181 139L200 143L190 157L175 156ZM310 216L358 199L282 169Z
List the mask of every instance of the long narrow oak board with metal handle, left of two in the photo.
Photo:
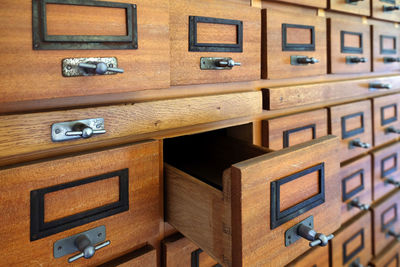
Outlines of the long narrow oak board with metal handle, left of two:
M10 115L0 117L0 158L140 135L166 129L258 114L261 93L183 98L147 103ZM104 118L107 133L92 139L54 143L57 122ZM12 148L12 149L10 149Z

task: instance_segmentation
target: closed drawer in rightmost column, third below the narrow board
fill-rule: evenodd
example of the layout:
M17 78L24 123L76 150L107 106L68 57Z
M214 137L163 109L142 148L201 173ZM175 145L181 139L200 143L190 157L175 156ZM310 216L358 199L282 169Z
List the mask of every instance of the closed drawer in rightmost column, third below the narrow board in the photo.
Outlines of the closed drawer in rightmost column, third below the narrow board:
M397 207L397 212L400 208L400 191L393 192L392 194L388 195L387 197L377 201L372 206L372 215L373 215L373 253L374 256L379 255L381 252L384 251L385 247L388 246L392 241L395 240L394 237L388 236L386 237L386 232L389 229L382 230L382 216L385 211L388 211L390 208L395 205ZM397 215L398 216L398 215ZM399 219L393 224L391 227L396 233L400 231L400 223Z

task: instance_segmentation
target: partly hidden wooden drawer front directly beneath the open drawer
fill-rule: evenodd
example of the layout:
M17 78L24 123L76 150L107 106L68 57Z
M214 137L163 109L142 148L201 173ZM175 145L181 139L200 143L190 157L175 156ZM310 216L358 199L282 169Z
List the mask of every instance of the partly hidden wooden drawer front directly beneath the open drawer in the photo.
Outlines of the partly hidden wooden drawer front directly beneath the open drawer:
M179 234L163 241L163 252L165 267L220 267L207 253Z

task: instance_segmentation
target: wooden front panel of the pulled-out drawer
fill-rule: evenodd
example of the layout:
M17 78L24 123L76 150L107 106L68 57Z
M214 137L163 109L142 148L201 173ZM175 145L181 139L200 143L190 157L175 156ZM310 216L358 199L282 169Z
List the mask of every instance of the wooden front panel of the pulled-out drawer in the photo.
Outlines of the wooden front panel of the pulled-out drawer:
M337 140L330 138L322 137L278 151L276 157L271 153L233 165L232 195L236 196L240 190L241 198L240 201L232 199L232 249L241 251L243 265L268 262L275 266L278 262L286 264L283 258L290 261L300 256L308 249L308 241L300 239L286 247L285 232L311 215L318 232L330 234L339 227L340 183L334 152ZM238 181L241 181L240 187ZM287 188L282 188L285 184ZM288 199L290 204L285 203ZM324 212L328 209L329 213ZM241 240L241 247L237 240ZM255 247L255 242L260 246ZM274 245L261 245L266 243ZM269 256L262 259L256 255Z

